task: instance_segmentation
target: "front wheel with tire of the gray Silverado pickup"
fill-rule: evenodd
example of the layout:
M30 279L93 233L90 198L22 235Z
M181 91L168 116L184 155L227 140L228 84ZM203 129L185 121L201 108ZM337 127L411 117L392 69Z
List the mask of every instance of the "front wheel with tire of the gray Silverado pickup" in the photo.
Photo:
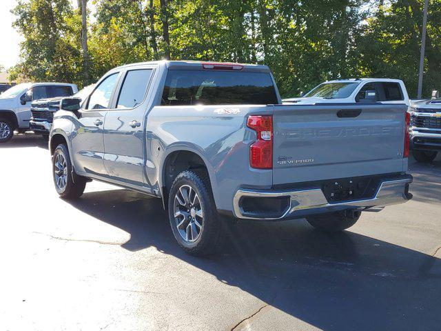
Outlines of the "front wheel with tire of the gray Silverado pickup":
M64 160L64 163L61 160ZM52 176L55 190L63 199L77 199L83 194L86 179L72 174L68 147L63 143L55 148L52 156ZM64 183L64 185L61 185L61 183Z

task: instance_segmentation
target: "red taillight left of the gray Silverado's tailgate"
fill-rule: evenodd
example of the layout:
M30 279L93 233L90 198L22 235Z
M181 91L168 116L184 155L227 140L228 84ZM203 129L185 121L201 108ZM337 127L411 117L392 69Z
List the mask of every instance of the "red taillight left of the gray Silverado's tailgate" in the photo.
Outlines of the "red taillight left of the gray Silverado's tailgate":
M250 116L247 127L256 131L257 139L249 148L249 165L256 169L273 168L273 117Z

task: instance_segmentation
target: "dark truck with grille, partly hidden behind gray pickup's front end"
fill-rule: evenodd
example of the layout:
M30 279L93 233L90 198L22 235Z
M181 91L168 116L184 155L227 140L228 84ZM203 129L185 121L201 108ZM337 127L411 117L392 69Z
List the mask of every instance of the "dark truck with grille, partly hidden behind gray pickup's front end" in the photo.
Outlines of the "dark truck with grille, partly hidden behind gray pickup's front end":
M86 86L81 91L76 92L72 95L72 98L79 98L85 100L88 97L94 84ZM30 105L31 119L30 119L30 130L34 131L36 134L43 134L43 136L48 135L50 129L52 128L52 120L54 118L54 112L60 109L60 101L65 96L39 99L32 101Z

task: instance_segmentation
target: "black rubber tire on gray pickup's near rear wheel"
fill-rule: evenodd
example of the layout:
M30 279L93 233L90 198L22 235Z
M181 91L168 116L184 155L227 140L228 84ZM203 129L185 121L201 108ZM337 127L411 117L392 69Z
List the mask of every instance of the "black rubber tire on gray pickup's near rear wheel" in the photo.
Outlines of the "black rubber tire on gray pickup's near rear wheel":
M189 190L188 187L192 190ZM178 193L181 188L187 190L187 196L189 197L187 200L190 202L189 204L187 204L187 200L183 194L181 194L181 192ZM192 195L192 192L196 192L199 205L195 195ZM177 194L178 198L176 198ZM179 203L179 200L185 203L186 206ZM192 202L194 202L194 205L192 205ZM175 217L175 208L177 208L176 210L178 210L178 212L181 212L178 217ZM185 170L178 174L170 189L168 212L174 238L185 252L204 256L220 251L225 238L226 224L216 210L207 172L203 170ZM200 214L201 212L203 218L198 216L198 213ZM199 224L202 225L201 228L194 225L196 221L198 223L201 222ZM181 225L179 230L178 223L181 222L183 222L183 225ZM186 232L186 230L191 230L189 232L193 233L193 225L196 230L194 238L193 234L191 235L191 240L190 236L184 238L183 236L185 236L184 232ZM197 230L199 230L199 232L197 232Z

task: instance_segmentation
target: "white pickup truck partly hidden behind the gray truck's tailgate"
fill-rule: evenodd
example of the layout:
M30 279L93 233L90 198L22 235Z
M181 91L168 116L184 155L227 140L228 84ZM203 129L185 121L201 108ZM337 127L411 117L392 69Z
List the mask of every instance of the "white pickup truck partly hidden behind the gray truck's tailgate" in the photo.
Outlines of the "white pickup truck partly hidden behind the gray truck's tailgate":
M300 98L283 99L283 103L406 103L409 96L400 79L357 78L325 81Z

